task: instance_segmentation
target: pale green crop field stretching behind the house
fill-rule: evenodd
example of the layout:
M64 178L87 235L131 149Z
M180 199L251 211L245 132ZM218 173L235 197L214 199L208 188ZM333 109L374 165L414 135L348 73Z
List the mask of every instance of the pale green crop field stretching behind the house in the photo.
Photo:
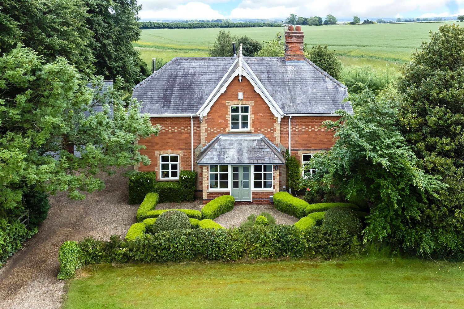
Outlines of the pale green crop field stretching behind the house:
M453 22L451 22L453 23ZM370 64L376 68L398 67L409 61L429 32L438 31L445 22L398 23L374 25L302 26L309 46L327 44L335 50L344 65ZM142 30L134 46L142 59L151 63L156 57L169 61L173 57L208 56L219 28ZM228 28L234 35L247 35L259 41L273 39L280 27Z

